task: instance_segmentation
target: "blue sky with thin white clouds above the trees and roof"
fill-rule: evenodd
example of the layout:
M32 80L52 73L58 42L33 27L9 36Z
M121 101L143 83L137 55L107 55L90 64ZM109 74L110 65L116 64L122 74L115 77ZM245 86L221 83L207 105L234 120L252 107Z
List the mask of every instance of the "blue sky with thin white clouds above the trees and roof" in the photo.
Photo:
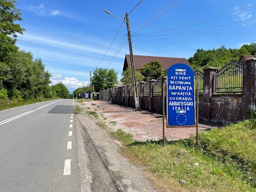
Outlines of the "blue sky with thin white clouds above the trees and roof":
M96 67L113 68L121 78L129 54L126 24L121 26L121 20L103 10L123 19L140 0L17 2L23 18L19 24L26 29L17 46L42 58L52 84L62 82L72 93L83 82L90 83L89 72ZM222 45L239 49L255 43L255 4L255 0L143 0L129 14L133 54L188 59L197 49Z

